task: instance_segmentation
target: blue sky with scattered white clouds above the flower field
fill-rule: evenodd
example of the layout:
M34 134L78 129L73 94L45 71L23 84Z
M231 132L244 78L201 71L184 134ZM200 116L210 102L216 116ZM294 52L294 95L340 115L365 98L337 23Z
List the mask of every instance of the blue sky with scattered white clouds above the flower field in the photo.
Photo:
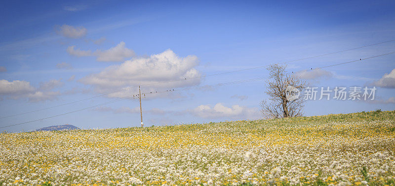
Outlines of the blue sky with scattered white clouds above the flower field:
M142 92L266 77L265 68L395 39L388 1L3 1L0 117L57 106L139 84ZM394 52L395 42L288 63L299 71ZM303 73L315 87L373 87L375 100L308 100L305 115L395 108L395 54ZM67 113L138 89L0 119L0 126ZM265 82L147 95L146 126L260 119ZM319 94L318 94L319 95ZM83 128L139 126L137 99L38 122Z

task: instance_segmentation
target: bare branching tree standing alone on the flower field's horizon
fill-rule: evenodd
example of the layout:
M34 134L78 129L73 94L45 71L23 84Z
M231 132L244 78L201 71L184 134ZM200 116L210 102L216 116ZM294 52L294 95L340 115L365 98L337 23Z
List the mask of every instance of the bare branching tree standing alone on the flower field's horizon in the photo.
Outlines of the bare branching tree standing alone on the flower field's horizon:
M307 87L306 81L286 73L286 65L273 64L266 80L268 100L262 100L261 112L265 118L288 118L302 116L304 101L300 93Z

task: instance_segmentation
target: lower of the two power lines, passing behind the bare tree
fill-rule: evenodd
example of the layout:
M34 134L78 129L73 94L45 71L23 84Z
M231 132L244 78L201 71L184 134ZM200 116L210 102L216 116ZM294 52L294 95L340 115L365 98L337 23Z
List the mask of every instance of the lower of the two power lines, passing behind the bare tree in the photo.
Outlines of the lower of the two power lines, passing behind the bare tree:
M316 67L316 68L311 68L311 69L305 69L305 70L300 70L300 71L296 71L296 72L292 72L292 73L302 73L302 72L306 72L306 71L313 71L313 70L318 70L318 69L322 69L322 68L327 68L327 67L332 67L332 66L343 65L343 64L352 63L352 62L359 62L359 61L368 60L368 59L372 59L372 58L377 58L377 57L381 57L381 56L386 56L386 55L390 55L390 54L395 54L395 51L394 51L394 52L390 52L390 53L385 53L385 54L377 55L377 56L372 56L372 57L369 57L369 58L363 58L363 59L354 60L354 61L350 61L350 62L341 62L341 63L331 64L331 65L326 65L326 66L321 66L321 67ZM292 74L292 73L287 73L287 74ZM269 77L260 77L260 78L247 79L247 80L241 80L241 81L234 81L234 82L228 82L228 83L222 83L222 84L216 84L216 85L208 85L208 86L201 86L201 87L185 88L185 89L179 89L179 90L173 90L173 91L185 91L185 90L194 90L194 89L204 89L204 88L210 88L210 87L217 87L217 86L224 86L224 85L231 85L231 84L237 84L237 83L245 83L245 82L257 81L257 80L268 79L268 78L269 78ZM167 91L161 91L161 92L155 92L155 93L166 93L166 92L167 92ZM149 94L149 93L144 93L144 94ZM27 124L27 123L37 122L37 121L40 121L40 120L45 120L45 119L49 119L49 118L54 118L54 117L58 117L58 116L62 116L62 115L66 115L66 114L70 114L70 113L74 113L74 112L86 110L86 109L91 109L91 108L98 107L98 106L101 106L101 105L110 104L110 103L117 102L117 101L120 101L120 100L123 100L123 99L127 99L128 97L132 97L132 96L133 96L133 95L129 95L129 96L125 96L125 97L122 97L122 98L113 100L113 101L109 101L109 102L101 103L101 104L98 104L98 105L94 105L94 106L82 108L82 109L79 109L79 110L75 110L75 111L71 111L71 112L67 112L67 113L63 113L63 114L59 114L59 115L55 115L55 116L50 116L50 117L42 118L42 119L38 119L38 120L33 120L33 121L29 121L29 122L24 122L24 123L19 123L19 124L11 124L11 125L7 125L7 126L2 126L2 127L0 127L0 128L5 128L5 127L9 127L9 126L20 125L20 124Z

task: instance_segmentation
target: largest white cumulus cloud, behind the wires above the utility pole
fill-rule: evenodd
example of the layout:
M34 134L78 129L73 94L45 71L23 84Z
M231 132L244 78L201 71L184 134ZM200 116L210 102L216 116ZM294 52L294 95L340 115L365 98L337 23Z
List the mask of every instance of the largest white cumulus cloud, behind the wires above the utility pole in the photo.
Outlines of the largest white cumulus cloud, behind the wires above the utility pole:
M198 85L200 83L199 78L155 84L162 81L200 76L199 71L195 69L197 64L196 56L179 57L169 49L150 57L135 58L109 66L103 71L85 76L79 81L85 85L92 85L98 93L108 93L144 84L153 84L143 86L144 93L155 92L169 87L174 89ZM111 93L108 96L124 97L136 94L137 91L138 89L130 89L129 91Z

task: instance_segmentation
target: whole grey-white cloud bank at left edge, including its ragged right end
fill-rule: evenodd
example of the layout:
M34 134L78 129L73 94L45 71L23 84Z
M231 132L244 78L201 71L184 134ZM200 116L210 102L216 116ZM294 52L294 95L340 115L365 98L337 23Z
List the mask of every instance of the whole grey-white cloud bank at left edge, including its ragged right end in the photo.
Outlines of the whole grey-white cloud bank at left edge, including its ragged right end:
M52 89L63 85L60 80L51 80L41 83L37 89L30 85L30 82L14 80L0 80L0 96L11 99L28 98L31 102L45 101L56 99L59 92L53 92Z

